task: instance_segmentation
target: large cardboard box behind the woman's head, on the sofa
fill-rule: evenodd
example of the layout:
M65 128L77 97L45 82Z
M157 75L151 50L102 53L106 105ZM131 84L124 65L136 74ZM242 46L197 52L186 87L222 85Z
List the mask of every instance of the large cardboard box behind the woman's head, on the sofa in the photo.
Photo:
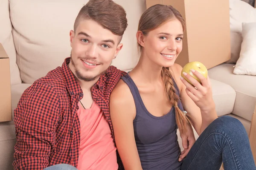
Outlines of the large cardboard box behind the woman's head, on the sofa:
M199 61L209 69L230 59L229 0L146 0L147 8L155 4L172 5L186 21L176 63Z

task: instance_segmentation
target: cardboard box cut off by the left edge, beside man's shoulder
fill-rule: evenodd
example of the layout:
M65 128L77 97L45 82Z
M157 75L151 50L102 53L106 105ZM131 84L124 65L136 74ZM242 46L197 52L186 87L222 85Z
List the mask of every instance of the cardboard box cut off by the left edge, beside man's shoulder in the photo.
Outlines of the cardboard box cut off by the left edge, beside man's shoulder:
M0 122L12 121L9 57L0 43Z

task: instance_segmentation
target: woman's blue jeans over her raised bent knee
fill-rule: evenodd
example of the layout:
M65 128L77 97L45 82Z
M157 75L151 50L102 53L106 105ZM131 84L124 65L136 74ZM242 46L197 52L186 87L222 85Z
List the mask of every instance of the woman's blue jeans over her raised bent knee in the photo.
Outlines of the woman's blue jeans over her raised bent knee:
M221 116L199 136L181 170L256 170L248 135L238 119Z

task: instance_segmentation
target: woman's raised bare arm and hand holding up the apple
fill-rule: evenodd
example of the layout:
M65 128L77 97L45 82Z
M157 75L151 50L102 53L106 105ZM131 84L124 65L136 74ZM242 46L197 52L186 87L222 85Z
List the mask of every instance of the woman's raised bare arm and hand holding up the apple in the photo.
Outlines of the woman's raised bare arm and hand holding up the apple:
M205 79L200 73L195 72L194 74L202 79L202 85L197 82L189 74L186 77L197 87L195 89L185 79L180 80L180 74L182 67L175 64L172 67L175 74L175 80L180 86L180 98L184 109L191 118L193 127L195 128L198 135L200 135L204 129L218 116L215 111L215 104L212 99L212 88L208 79Z

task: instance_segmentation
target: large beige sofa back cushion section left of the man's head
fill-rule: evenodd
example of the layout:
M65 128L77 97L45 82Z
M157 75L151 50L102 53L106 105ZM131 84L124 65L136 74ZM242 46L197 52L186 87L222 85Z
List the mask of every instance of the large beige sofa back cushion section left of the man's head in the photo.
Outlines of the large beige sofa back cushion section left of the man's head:
M69 31L84 0L9 0L17 65L32 84L70 56Z

